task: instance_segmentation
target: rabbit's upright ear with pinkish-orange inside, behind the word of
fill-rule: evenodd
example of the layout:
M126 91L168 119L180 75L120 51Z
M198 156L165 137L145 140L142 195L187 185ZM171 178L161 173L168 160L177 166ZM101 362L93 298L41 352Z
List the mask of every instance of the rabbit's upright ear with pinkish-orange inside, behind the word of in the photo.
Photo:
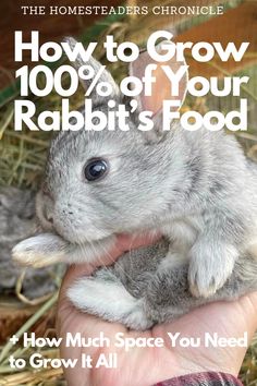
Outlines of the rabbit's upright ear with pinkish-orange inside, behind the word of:
M167 53L167 49L164 49L163 45L173 45L172 41L166 40L160 43L156 50L158 53ZM145 132L146 135L154 138L162 136L162 102L164 100L176 100L178 105L170 108L170 111L176 111L183 105L186 95L187 81L188 81L188 67L185 63L185 60L178 61L175 56L169 61L157 62L155 61L147 51L144 51L139 55L139 57L131 63L130 65L130 75L136 76L139 80L144 80L145 70L148 64L154 64L154 69L151 70L152 83L151 83L151 95L146 96L143 87L143 92L137 97L137 102L139 104L139 108L142 110L152 111L152 120L154 120L154 133ZM162 68L163 67L163 68ZM166 67L166 69L164 69ZM163 70L164 69L164 70ZM178 79L178 82L172 82L167 75L174 74ZM180 80L180 81L179 81ZM175 84L176 83L176 84ZM179 83L179 86L178 86Z

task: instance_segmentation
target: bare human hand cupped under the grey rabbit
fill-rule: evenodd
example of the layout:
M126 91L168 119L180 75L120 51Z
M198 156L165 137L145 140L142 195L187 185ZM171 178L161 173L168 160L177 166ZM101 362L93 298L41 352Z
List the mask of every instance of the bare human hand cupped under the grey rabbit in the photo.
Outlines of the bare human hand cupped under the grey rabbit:
M149 244L148 238L119 237L118 243L106 256L101 264L111 264L124 251ZM248 341L257 327L257 292L247 294L235 302L217 302L204 305L179 319L155 326L147 331L133 331L121 324L105 322L93 315L76 310L66 299L66 290L72 282L83 276L90 275L96 267L77 265L69 268L62 284L58 306L58 335L65 337L79 333L83 337L98 337L100 331L114 341L115 334L123 333L124 337L160 337L164 340L163 348L133 348L126 351L114 346L110 348L78 348L61 346L61 358L76 359L82 353L90 355L93 362L100 352L118 353L118 369L64 369L65 378L70 386L149 386L157 382L188 373L216 371L237 376L243 362L245 347L171 347L168 333L181 333L181 337L200 338L204 342L206 333L217 333L219 337L241 338L244 331ZM86 293L85 293L86 295ZM65 339L63 339L65 341Z

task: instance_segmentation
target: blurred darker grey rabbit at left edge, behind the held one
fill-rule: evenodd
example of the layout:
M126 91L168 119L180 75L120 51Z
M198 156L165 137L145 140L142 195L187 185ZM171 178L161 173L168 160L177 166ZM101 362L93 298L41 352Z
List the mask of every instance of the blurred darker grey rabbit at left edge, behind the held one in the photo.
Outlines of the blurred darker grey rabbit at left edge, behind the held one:
M24 269L13 264L12 248L37 231L35 192L13 186L0 186L0 292L15 292L15 284ZM60 272L60 267L58 272ZM22 293L36 299L56 289L57 267L35 270L27 268L22 280Z

